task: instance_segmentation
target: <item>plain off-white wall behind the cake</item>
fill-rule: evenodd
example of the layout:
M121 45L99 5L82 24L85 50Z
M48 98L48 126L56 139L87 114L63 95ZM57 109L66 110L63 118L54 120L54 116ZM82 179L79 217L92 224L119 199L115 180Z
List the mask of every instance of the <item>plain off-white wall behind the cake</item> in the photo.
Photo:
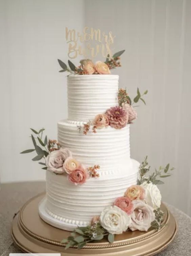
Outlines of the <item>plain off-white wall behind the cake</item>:
M131 156L150 165L168 162L174 175L161 186L163 200L191 215L191 1L0 1L1 182L44 178L31 155L29 128L57 136L66 118L65 27L112 31L115 50L126 49L120 87L134 96L146 89L147 106L131 126ZM78 60L75 60L77 62Z

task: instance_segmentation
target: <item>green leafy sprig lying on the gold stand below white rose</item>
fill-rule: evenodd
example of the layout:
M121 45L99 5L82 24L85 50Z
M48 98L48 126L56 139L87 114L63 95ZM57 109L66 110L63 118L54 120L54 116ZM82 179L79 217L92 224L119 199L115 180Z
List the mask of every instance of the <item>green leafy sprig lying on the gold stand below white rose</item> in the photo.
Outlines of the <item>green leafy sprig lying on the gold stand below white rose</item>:
M114 235L109 234L98 221L93 225L74 229L70 236L63 239L61 243L66 244L65 250L73 246L77 246L78 249L81 249L86 243L102 240L104 236L107 236L110 243L114 241Z

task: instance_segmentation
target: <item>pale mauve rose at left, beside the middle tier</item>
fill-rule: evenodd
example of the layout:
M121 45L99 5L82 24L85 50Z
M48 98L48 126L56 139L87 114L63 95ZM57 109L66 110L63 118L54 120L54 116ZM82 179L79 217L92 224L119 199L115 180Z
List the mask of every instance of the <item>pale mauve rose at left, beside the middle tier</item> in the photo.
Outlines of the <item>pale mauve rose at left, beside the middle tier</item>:
M45 159L45 164L49 171L55 173L64 173L63 164L66 158L71 157L72 154L69 149L63 149L52 151Z

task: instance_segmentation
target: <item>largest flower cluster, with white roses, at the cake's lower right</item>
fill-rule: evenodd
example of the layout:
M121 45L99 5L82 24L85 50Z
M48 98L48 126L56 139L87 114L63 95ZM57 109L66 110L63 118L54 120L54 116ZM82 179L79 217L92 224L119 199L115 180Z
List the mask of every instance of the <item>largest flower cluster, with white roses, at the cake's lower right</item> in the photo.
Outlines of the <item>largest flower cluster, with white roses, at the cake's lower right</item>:
M163 227L164 212L160 209L161 193L156 184L163 184L159 178L170 176L169 164L165 168L155 169L151 175L147 157L139 167L137 185L130 186L122 197L116 198L113 205L107 206L100 216L95 216L91 224L78 227L61 243L65 249L77 246L83 248L86 243L101 240L107 236L112 243L116 234L125 231L148 231L149 228L159 230ZM163 174L165 173L165 175ZM166 174L168 173L168 174Z

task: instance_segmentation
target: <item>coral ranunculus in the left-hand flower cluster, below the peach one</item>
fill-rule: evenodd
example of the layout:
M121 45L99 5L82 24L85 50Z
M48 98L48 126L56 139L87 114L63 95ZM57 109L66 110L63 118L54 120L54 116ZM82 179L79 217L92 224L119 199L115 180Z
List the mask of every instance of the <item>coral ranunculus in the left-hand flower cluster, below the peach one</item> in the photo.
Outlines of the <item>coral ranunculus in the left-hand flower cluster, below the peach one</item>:
M82 165L68 175L68 180L75 185L85 183L87 178L89 175Z

